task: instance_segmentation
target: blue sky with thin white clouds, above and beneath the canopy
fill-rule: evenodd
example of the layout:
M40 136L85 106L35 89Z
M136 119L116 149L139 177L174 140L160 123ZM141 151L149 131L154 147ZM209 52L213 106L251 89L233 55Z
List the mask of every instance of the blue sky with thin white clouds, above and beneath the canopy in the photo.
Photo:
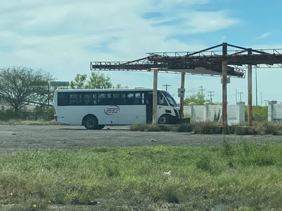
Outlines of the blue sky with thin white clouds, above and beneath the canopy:
M27 66L57 81L90 75L90 61L131 61L149 52L200 51L227 42L282 48L280 0L17 0L0 2L0 68ZM282 50L280 51L282 53ZM103 72L114 85L153 87L150 72ZM253 71L253 104L282 102L282 68ZM160 73L159 89L177 98L179 74ZM217 76L185 76L185 95L200 87L221 102ZM255 88L257 87L257 98ZM231 78L227 101L247 102L247 79Z

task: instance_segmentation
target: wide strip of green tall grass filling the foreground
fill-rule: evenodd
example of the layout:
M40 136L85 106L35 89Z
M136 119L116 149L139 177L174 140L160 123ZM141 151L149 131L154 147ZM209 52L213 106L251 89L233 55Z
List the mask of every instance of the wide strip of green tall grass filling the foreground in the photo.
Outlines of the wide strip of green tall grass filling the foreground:
M59 205L68 210L282 209L281 153L281 144L225 139L203 147L5 155L0 157L0 210L56 210Z

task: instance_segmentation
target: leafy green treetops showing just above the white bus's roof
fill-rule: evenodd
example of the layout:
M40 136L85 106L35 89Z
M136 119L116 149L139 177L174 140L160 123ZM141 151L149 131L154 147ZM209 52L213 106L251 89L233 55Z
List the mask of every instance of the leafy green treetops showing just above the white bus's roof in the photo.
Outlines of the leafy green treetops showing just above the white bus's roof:
M86 74L77 74L74 81L70 83L72 89L110 89L112 83L109 76L103 73L92 72L87 81Z

